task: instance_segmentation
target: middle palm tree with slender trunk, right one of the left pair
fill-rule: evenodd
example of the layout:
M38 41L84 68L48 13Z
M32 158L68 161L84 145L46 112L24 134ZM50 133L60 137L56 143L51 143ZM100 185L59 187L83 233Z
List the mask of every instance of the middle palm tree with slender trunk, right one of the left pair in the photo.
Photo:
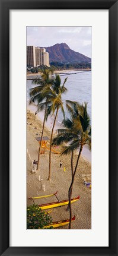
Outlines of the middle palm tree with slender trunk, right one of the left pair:
M48 107L47 107L47 117L49 116L50 113L52 113L52 115L53 115L56 111L55 119L54 119L53 127L52 127L52 132L51 132L51 137L50 137L48 180L50 180L50 172L51 172L51 149L52 149L53 130L55 128L56 118L58 116L59 109L62 111L63 117L65 118L65 111L64 111L63 102L62 102L62 94L67 91L67 89L65 87L66 81L67 81L67 77L65 78L65 80L61 86L60 76L59 75L55 76L55 79L53 80L53 84L52 84L53 94L50 96L50 100L52 101L52 103L50 105L48 105Z

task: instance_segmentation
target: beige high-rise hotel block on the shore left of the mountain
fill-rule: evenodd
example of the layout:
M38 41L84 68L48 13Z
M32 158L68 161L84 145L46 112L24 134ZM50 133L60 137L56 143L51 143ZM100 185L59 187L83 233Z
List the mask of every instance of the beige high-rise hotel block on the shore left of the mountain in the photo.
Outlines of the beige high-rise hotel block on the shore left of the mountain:
M45 48L27 46L27 65L38 67L46 65L49 67L49 53Z

